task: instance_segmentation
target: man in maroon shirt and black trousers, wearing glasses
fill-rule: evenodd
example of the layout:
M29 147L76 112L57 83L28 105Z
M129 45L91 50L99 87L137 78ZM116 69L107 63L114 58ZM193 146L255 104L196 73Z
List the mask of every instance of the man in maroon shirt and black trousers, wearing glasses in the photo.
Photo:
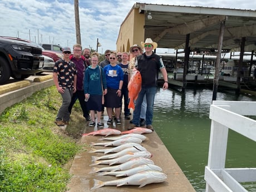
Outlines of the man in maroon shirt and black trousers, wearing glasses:
M87 103L85 102L85 93L83 92L85 70L88 66L90 66L90 62L88 62L87 58L82 55L82 46L80 44L73 45L73 55L70 56L70 60L75 63L77 68L77 83L76 93L74 93L72 96L70 106L68 106L68 111L71 114L72 107L78 99L83 112L83 117L85 117L86 121L90 121L90 111L87 108Z

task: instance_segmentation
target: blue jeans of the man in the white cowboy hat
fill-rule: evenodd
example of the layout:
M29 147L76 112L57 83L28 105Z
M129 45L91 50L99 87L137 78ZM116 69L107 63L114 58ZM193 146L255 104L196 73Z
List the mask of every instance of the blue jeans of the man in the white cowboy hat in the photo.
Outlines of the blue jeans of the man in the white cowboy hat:
M134 118L132 123L139 126L140 125L140 114L141 114L141 106L146 95L146 125L152 125L153 119L153 107L154 107L154 100L156 94L156 87L141 87L141 91L139 92L139 96L136 100L135 110L134 110Z

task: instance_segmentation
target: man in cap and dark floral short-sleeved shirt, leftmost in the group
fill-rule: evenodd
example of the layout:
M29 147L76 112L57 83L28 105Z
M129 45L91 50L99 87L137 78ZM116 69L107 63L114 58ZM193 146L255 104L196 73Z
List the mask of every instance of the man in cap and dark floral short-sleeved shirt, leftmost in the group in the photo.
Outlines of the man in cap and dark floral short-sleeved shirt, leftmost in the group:
M63 58L55 62L53 67L53 82L57 91L62 96L62 105L58 110L55 120L56 125L68 125L70 120L70 112L68 106L71 102L73 93L76 92L77 69L75 63L70 61L71 49L69 47L63 48Z

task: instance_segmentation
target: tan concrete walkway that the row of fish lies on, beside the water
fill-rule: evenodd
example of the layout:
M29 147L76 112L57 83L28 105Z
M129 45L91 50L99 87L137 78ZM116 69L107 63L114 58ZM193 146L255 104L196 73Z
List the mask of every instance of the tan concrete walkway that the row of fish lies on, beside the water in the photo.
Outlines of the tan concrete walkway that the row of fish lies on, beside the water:
M105 118L104 121L106 122ZM125 122L125 126L129 124L129 120L122 120L122 122ZM105 123L106 125L106 123ZM118 127L124 127L124 125L117 125L116 129ZM93 128L86 127L85 132L91 132L93 131ZM127 129L126 129L127 130ZM73 164L70 169L70 173L73 175L71 179L71 183L68 184L68 192L87 192L87 191L107 191L107 192L117 192L117 191L129 191L129 192L136 192L136 191L149 191L149 192L194 192L195 189L193 186L189 183L189 180L184 175L183 171L179 168L176 161L173 159L173 156L169 153L169 151L166 149L163 142L160 140L159 136L156 134L156 132L152 132L150 134L144 134L147 139L142 142L142 146L147 149L147 151L151 152L152 157L151 160L154 161L155 165L160 166L160 168L163 169L163 173L167 175L167 179L164 181L164 183L157 183L157 184L149 184L142 188L138 188L138 186L132 186L132 185L125 185L125 186L103 186L102 188L98 188L95 190L90 190L93 186L93 179L98 179L102 181L108 181L108 180L115 180L119 179L115 176L97 176L96 173L89 174L92 167L90 164L92 164L91 156L101 156L102 153L90 153L88 151L91 150L91 147L88 146L90 142L105 142L105 141L99 141L102 136L95 135L95 136L83 136L81 138L81 143L86 144L85 151L80 152L80 154L77 154L75 159L73 160ZM112 137L112 136L111 136ZM107 142L107 141L106 141ZM102 146L93 146L95 149L104 149ZM105 167L109 165L95 165L97 168Z

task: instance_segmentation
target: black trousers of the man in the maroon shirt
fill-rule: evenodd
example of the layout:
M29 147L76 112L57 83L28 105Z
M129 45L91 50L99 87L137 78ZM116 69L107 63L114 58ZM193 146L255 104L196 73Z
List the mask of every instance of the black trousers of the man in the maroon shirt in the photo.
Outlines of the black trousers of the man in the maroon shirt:
M85 118L88 117L90 111L87 109L86 102L85 102L85 92L83 90L77 90L73 94L73 96L71 98L70 106L68 106L68 112L70 112L70 114L71 114L72 107L75 104L77 99L79 100L81 109L83 111L83 117L85 117Z

